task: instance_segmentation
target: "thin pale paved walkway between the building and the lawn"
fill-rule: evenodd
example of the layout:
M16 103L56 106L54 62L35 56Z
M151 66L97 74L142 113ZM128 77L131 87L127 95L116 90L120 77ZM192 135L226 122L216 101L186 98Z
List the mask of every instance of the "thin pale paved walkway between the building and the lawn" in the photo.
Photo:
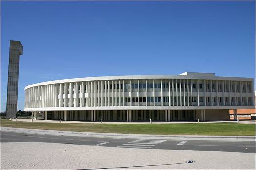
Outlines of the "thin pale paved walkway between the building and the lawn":
M12 121L16 121L16 119L11 119ZM31 119L17 119L17 121L31 122ZM33 122L41 122L41 123L60 123L57 120L41 120L37 119ZM61 121L62 123L95 123L100 124L101 122L93 122L93 121ZM102 122L104 124L149 124L149 122ZM182 123L198 123L197 121L179 121L179 122L152 122L152 124L182 124ZM201 121L200 123L249 123L255 124L255 120L243 120L243 121Z

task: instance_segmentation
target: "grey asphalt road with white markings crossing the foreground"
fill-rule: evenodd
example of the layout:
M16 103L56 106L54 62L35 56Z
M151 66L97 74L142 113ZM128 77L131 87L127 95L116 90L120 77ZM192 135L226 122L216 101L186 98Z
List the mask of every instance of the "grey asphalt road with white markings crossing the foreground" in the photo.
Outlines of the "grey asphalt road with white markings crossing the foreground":
M75 137L0 132L0 142L47 142L121 148L147 148L165 150L227 151L256 153L255 142L249 141L193 141L161 139L119 139L103 137Z

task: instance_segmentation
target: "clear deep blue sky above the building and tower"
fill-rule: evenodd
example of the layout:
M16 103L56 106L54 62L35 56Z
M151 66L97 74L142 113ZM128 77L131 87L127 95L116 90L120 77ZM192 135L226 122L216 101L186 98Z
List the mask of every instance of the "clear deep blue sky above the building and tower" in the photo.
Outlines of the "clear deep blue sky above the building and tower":
M67 78L212 72L255 81L255 1L1 1L1 112L9 40L24 87ZM254 83L255 85L255 83Z

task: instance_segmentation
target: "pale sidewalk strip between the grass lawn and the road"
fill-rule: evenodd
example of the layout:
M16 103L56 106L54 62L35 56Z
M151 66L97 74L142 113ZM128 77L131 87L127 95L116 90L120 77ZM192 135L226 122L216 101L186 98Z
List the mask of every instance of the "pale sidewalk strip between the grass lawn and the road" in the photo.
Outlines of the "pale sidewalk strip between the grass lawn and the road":
M79 137L104 137L104 138L126 138L126 139L163 139L163 140L204 140L204 141L256 141L255 136L205 136L205 135L142 135L142 134L115 134L96 132L71 132L42 129L22 129L11 127L0 127L4 132L18 132L41 135L61 135Z

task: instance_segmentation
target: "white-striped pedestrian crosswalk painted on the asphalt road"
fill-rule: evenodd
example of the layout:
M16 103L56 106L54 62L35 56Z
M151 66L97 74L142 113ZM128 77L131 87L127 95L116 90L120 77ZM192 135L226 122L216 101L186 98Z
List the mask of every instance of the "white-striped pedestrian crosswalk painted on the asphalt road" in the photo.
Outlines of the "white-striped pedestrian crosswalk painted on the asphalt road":
M166 140L157 140L157 139L138 139L132 142L127 142L123 145L120 145L118 147L122 148L152 148Z

